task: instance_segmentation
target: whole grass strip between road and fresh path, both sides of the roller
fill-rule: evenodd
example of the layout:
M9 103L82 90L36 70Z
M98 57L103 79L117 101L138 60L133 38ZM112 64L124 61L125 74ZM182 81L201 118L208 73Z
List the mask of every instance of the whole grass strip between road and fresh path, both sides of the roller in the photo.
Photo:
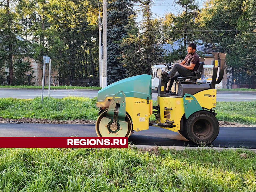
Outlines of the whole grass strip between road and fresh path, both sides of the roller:
M18 119L22 117L45 118L52 120L90 119L96 120L97 99L88 97L66 97L35 99L0 98L0 116ZM157 101L153 101L157 105ZM251 102L217 102L215 108L217 119L256 125L256 101ZM155 119L152 115L151 120Z

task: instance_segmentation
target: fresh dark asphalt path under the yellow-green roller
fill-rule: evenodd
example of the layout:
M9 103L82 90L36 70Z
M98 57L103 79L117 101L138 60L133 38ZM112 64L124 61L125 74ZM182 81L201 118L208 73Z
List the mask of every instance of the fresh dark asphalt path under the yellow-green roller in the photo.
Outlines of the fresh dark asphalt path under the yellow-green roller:
M0 124L1 137L97 137L91 124ZM215 147L246 147L256 149L256 127L221 127ZM170 130L150 126L149 130L134 131L128 139L138 145L198 146Z

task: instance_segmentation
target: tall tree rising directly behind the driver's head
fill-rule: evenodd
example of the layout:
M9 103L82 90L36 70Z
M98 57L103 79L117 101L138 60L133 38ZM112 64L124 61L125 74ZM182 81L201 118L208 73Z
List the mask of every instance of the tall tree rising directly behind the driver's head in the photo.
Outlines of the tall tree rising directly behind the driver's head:
M174 5L181 7L181 13L175 16L172 13L165 15L163 21L164 39L167 43L178 41L179 49L167 53L167 61L174 62L184 59L187 55L187 45L199 39L197 19L199 6L195 0L176 0Z

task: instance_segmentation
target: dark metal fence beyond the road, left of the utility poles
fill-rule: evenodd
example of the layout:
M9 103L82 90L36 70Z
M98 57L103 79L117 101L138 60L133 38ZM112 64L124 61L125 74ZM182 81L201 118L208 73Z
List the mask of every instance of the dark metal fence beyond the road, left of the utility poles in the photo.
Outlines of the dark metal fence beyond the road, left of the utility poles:
M12 82L12 85L33 85L33 86L42 86L42 79L30 79L29 77L26 80L18 80L18 79L0 79L0 85L10 85L10 82ZM51 86L82 86L82 87L89 87L89 86L99 86L99 80L93 80L90 79L74 79L74 78L63 78L63 79L51 79L45 80L44 85L50 85Z

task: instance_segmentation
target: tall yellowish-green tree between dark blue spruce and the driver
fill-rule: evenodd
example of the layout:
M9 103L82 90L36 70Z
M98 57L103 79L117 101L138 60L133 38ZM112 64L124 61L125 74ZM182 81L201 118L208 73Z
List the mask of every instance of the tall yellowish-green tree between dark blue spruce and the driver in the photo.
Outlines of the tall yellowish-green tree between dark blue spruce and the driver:
M141 2L143 9L141 27L135 22L135 15L129 17L127 35L120 41L122 63L127 67L128 75L150 74L151 66L162 62L161 22L150 19L151 2Z

